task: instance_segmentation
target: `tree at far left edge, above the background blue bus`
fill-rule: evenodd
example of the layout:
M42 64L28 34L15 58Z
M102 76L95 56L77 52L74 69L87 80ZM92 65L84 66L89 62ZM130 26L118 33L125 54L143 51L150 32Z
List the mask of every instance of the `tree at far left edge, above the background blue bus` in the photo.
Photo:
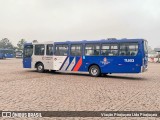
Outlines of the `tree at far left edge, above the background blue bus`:
M2 49L13 49L13 45L9 41L8 38L3 38L2 40L0 40L0 48L2 48Z

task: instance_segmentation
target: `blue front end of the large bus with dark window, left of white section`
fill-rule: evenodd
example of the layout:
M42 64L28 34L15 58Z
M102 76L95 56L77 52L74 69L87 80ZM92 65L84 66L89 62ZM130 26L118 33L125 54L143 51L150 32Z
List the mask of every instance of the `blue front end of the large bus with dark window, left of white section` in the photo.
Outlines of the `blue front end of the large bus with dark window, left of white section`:
M25 45L24 46L24 55L23 55L23 67L31 68L32 62L32 54L33 54L33 45Z

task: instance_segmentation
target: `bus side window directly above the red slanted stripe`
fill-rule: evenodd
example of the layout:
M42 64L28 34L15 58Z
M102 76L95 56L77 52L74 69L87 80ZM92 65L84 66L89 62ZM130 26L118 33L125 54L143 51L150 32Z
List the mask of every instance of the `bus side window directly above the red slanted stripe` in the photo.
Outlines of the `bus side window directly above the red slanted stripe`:
M71 55L81 56L82 55L82 45L71 45Z

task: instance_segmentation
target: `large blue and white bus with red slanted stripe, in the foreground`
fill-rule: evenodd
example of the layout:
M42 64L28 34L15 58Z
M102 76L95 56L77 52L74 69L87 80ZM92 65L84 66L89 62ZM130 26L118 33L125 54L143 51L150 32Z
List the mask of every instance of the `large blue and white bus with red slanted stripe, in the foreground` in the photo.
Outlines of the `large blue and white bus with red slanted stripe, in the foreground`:
M24 44L23 67L38 72L82 71L91 76L141 73L148 68L144 39L103 39Z

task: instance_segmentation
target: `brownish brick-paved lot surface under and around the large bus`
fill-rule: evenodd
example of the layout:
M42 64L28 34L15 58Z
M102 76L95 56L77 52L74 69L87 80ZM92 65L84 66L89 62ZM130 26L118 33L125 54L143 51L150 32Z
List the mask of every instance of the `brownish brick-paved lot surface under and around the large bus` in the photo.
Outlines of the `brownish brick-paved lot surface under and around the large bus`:
M0 60L0 86L3 111L160 110L158 63L149 63L145 73L90 77L86 73L37 73L23 69L22 59L6 59Z

